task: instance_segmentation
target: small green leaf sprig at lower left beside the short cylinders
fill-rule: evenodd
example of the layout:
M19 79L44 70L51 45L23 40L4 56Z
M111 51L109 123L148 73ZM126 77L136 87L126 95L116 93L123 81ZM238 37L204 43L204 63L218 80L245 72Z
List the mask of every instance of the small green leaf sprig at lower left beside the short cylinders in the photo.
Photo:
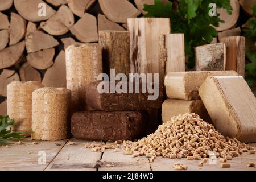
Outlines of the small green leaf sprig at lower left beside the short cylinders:
M14 125L14 120L10 119L8 115L4 117L0 115L0 143L5 143L9 139L23 139L23 132L14 132L8 130L9 126Z

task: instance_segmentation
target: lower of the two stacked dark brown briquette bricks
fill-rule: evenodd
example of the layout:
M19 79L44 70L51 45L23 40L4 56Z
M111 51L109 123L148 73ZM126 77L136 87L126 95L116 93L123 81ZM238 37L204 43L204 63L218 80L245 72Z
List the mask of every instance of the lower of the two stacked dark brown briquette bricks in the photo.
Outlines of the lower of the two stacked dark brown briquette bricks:
M73 137L82 140L133 140L143 137L146 111L82 111L72 115Z

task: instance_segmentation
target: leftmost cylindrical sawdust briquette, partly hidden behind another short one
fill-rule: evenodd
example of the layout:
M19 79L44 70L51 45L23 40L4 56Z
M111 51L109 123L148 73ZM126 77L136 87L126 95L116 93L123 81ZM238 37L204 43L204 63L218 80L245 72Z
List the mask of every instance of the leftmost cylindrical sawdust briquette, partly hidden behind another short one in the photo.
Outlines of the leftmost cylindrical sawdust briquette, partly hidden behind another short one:
M12 130L31 131L32 92L42 87L38 81L13 81L7 85L7 114L15 121Z

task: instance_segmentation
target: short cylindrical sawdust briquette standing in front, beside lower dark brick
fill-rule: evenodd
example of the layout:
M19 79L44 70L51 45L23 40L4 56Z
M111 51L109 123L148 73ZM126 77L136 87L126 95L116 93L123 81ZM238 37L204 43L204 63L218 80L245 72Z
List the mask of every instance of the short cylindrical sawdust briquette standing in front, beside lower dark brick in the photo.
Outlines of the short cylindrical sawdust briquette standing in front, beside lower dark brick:
M70 130L71 91L41 88L32 93L32 139L67 139Z

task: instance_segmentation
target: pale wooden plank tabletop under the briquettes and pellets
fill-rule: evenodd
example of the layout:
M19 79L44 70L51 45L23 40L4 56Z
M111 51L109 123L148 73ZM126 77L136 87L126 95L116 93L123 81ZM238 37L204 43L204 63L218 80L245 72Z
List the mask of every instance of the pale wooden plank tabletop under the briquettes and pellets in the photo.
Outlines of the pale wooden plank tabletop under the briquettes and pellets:
M104 152L93 152L84 145L92 142L79 141L75 139L59 142L42 142L26 139L23 144L9 143L0 146L0 170L82 170L82 171L105 171L105 170L136 170L136 171L156 171L175 170L173 164L176 162L188 166L188 170L254 170L254 167L246 167L247 163L255 163L256 155L244 153L243 155L228 161L231 168L221 168L220 162L217 164L205 163L203 167L197 166L199 160L188 161L185 159L166 159L157 157L154 163L150 163L146 156L133 158L131 155L124 155L121 150L106 149ZM71 143L72 142L72 143ZM256 148L256 143L251 144ZM46 154L45 163L38 163L42 159L42 152ZM103 165L100 168L93 168L97 160L101 160ZM41 161L42 162L42 161ZM108 165L109 164L109 165Z

